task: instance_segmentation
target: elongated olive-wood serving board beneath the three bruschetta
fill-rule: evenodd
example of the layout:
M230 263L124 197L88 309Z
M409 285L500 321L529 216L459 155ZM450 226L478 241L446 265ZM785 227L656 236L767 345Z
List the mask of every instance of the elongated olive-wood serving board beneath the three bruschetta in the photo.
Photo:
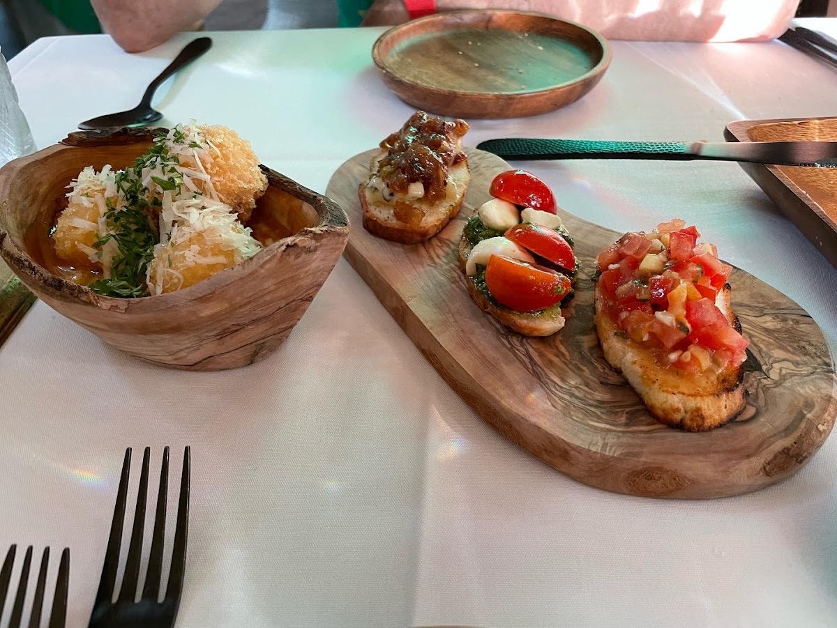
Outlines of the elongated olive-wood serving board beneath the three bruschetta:
M471 181L460 216L429 242L407 246L362 227L357 187L375 152L343 164L326 192L352 226L344 254L444 380L543 462L608 491L716 498L792 475L828 437L837 414L828 345L809 314L777 290L737 268L730 278L751 342L746 410L714 431L672 429L610 368L593 329L593 258L621 234L559 211L583 266L573 316L551 337L526 338L477 308L457 263L465 219L510 166L466 150Z

